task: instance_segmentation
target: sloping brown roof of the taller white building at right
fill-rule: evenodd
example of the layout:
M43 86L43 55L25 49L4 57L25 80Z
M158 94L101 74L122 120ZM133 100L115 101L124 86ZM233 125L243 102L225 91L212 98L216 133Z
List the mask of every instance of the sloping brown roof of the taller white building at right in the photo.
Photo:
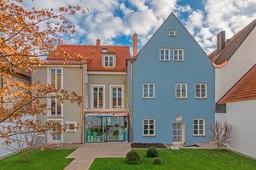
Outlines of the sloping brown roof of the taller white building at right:
M241 43L248 37L256 26L256 20L253 20L249 25L244 27L241 31L231 37L225 44L225 48L217 54L217 49L209 54L208 57L212 59L215 65L222 65L226 60L229 60L236 50L241 46Z

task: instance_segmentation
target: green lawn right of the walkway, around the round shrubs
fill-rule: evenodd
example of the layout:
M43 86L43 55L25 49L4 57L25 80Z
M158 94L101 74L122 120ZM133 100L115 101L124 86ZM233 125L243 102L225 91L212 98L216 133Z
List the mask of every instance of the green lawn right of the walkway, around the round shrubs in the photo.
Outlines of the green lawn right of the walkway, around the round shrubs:
M154 158L147 156L147 150L137 150L141 163L127 164L125 158L97 158L90 170L98 169L256 169L256 161L237 155L229 150L165 150L160 149L162 165L154 165Z

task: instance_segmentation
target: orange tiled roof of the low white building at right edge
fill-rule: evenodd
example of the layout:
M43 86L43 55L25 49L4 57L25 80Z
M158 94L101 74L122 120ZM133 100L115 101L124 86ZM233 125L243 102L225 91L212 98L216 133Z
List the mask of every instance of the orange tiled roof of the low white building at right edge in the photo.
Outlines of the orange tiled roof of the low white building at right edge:
M256 99L256 64L218 100L217 104Z

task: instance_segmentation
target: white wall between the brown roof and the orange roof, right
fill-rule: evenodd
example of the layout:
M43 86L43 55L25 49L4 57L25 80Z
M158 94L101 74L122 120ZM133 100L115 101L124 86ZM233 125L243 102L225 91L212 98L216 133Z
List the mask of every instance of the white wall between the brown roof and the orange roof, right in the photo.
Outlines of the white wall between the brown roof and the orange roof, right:
M218 101L256 63L255 47L256 28L236 50L228 64L215 69L215 101Z

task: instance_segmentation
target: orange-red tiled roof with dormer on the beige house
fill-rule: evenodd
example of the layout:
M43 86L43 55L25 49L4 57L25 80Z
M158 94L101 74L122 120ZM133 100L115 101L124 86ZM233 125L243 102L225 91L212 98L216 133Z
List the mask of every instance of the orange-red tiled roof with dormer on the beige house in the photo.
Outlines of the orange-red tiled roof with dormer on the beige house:
M130 59L129 46L100 46L96 45L60 45L58 48L67 49L68 53L80 54L83 59L90 60L87 65L88 71L127 71L125 59ZM107 53L102 52L102 48L108 48ZM116 54L116 67L102 67L102 54ZM63 57L49 55L47 60L50 59L64 59Z

